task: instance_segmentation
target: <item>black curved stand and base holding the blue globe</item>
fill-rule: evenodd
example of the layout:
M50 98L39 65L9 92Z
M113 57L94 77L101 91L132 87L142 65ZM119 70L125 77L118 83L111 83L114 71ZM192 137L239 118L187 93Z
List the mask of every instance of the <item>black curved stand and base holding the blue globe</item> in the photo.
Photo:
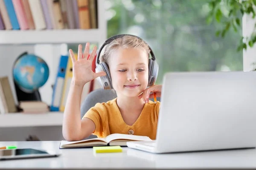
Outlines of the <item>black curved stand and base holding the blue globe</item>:
M20 56L17 57L17 59L15 60L14 63L16 63L16 61L20 57L22 57L23 55L27 55L27 54L28 54L27 52L24 52L24 53L20 54ZM41 95L40 95L38 90L35 90L31 93L27 93L27 92L25 92L25 91L23 91L22 89L19 88L19 86L17 85L17 83L14 80L14 77L13 77L13 82L14 82L14 85L15 85L15 91L16 91L16 96L17 96L18 102L20 102L20 101L41 101Z

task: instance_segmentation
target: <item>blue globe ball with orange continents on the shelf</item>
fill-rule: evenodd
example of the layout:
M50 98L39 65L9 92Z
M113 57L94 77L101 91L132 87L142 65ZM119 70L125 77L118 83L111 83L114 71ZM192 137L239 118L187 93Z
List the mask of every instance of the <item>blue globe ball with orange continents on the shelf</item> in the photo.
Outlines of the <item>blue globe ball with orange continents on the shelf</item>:
M32 93L47 82L49 67L42 58L25 54L14 63L13 77L22 91Z

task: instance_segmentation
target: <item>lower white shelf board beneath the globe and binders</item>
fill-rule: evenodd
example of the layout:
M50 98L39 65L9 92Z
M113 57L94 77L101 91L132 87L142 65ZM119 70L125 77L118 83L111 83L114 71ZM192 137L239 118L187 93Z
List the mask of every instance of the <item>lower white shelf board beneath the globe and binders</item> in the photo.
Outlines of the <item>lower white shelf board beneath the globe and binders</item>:
M0 114L0 127L62 126L62 112Z

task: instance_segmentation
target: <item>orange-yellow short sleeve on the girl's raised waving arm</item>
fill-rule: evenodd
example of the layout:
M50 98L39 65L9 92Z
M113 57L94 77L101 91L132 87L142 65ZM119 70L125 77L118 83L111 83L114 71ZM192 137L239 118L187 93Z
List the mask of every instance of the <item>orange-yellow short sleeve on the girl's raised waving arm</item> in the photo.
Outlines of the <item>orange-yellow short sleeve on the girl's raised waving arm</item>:
M107 110L104 105L97 103L94 107L90 108L82 119L85 117L91 119L95 124L95 130L93 135L102 136L103 134L103 123L105 122L105 117L107 115Z

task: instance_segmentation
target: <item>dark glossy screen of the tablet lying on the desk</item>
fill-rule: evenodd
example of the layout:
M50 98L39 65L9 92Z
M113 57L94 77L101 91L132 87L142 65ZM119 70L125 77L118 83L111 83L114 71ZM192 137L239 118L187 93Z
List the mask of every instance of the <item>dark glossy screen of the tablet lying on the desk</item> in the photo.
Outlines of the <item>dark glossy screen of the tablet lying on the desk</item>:
M20 156L20 155L31 155L31 154L48 154L42 150L35 149L9 149L9 150L0 150L0 156Z

